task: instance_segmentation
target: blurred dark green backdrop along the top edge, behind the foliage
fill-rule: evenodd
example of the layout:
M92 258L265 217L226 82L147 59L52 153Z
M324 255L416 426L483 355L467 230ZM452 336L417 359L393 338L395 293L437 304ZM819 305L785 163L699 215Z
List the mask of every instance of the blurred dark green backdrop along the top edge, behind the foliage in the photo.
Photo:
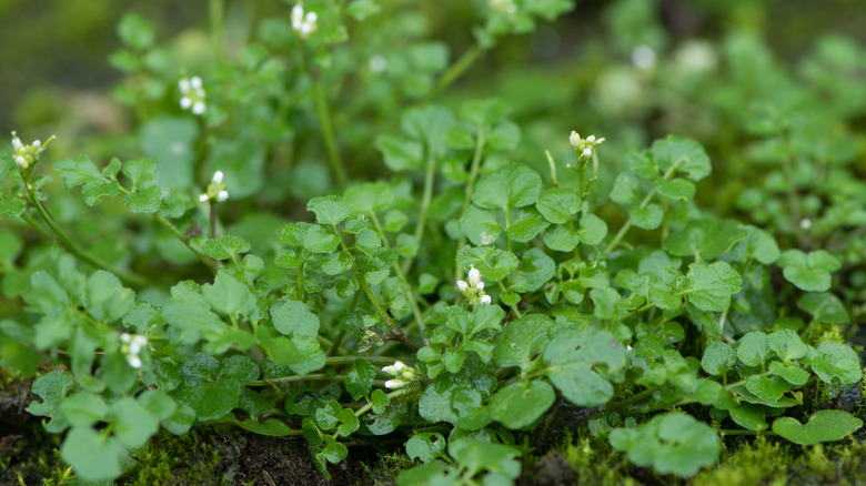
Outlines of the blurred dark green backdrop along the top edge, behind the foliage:
M391 3L395 2L382 2L385 8ZM446 41L452 58L472 42L471 27L476 21L473 2L410 3L426 11L429 37ZM239 47L252 36L256 19L288 16L291 6L276 0L229 0L225 7L231 52L232 45ZM122 13L138 11L158 27L158 41L197 51L208 45L208 8L204 0L0 0L0 126L29 136L46 136L59 131L59 125L79 135L123 132L130 128L129 113L110 97L112 84L122 75L108 61L120 48L115 26ZM744 28L761 32L782 59L791 60L828 32L862 44L865 27L866 4L862 0L578 1L576 9L555 24L506 38L461 85L486 91L490 75L507 84L513 70L528 68L537 75L545 74L538 69L561 73L563 68L574 67L580 71L581 67L597 65L602 61L598 54L627 61L638 44L654 48L662 58L673 54L684 39L715 42ZM596 50L594 57L598 45L604 49ZM568 84L567 79L560 80ZM553 87L547 93L536 93L538 100L530 97L522 101L552 109L543 102L561 90L567 87Z

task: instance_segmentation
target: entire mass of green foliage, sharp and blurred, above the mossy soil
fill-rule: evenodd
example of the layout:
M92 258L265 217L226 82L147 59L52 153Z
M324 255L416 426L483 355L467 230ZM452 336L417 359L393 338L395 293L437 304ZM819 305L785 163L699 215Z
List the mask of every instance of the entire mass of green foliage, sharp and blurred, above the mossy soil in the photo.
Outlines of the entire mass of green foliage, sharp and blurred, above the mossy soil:
M403 2L285 4L226 51L214 1L191 64L124 16L124 155L0 154L0 365L38 376L63 460L113 479L161 428L221 423L303 436L325 477L387 435L397 484L506 485L562 407L678 477L732 435L860 429L827 404L863 377L863 49L823 38L792 72L754 32L668 48L643 4L606 11L634 65L585 60L574 121L533 119L574 94L525 73L449 95L567 0L477 2L455 60ZM650 140L646 93L688 126Z

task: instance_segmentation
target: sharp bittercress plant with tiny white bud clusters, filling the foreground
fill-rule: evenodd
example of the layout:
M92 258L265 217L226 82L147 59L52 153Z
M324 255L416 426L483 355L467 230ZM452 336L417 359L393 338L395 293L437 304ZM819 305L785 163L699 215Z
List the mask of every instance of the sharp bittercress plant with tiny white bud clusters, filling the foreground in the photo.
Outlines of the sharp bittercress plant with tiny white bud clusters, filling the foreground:
M392 101L436 94L499 37L570 6L491 1L477 45L440 77L435 49L419 48L431 69L391 81L402 87ZM423 463L397 478L406 485L510 484L526 437L565 406L592 409L591 433L634 464L681 477L714 464L727 434L809 445L860 428L847 412L815 412L813 398L855 386L857 354L804 340L786 314L797 303L823 323L845 322L833 291L850 259L802 245L813 229L802 211L739 222L702 210L697 183L712 164L695 140L633 151L602 185L604 138L572 132L571 162L548 153L548 165L530 165L514 160L521 131L505 103L424 103L404 110L399 129L377 128L390 175L350 179L339 143L353 142L334 129L323 88L345 72L329 48L346 39L346 16L377 9L293 4L291 22L271 19L236 63L202 71L207 107L201 78L185 74L171 108L160 104L177 70L142 62L160 49L153 29L124 18L127 50L113 62L138 80L120 95L135 108L147 156L53 166L87 206L142 227L117 254L63 229L49 178L34 172L48 142L24 145L13 132L0 159L2 211L49 244L20 262L3 255L3 292L26 306L0 322L0 361L31 374L50 363L29 409L67 433L61 452L81 478L118 477L160 427L208 423L303 435L325 476L349 454L346 437L402 437ZM298 62L284 62L289 50ZM389 55L382 62L401 54ZM331 195L304 198L310 214L279 209L286 196L268 178L285 168L265 155L303 130L321 133L310 143L321 142L314 153L335 183ZM776 145L794 131L761 130ZM799 153L786 146L776 162ZM557 168L576 180L560 181ZM800 196L787 193L792 204ZM254 231L238 214L241 223L224 224L229 212L249 213Z

